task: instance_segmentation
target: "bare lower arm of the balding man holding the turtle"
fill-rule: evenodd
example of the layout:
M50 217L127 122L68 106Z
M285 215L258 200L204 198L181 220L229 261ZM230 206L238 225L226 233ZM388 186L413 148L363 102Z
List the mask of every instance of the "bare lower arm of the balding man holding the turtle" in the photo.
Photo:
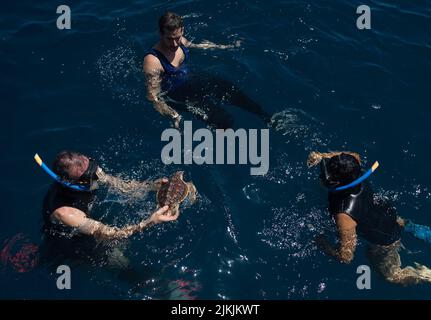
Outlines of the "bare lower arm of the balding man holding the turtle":
M122 228L111 227L100 221L90 219L81 210L71 207L61 207L55 210L52 216L64 225L76 228L79 233L94 236L99 240L108 240L128 238L132 234L144 231L155 224L176 220L179 213L171 216L166 214L168 210L169 207L165 206L154 212L150 218Z

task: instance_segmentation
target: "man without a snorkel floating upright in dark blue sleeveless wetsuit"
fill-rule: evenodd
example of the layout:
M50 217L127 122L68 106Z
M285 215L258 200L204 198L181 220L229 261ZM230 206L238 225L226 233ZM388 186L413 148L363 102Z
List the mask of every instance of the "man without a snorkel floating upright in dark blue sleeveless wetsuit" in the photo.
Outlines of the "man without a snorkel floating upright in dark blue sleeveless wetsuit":
M213 75L193 75L187 66L189 48L228 49L238 47L239 42L235 45L218 45L209 41L194 44L183 35L184 25L179 15L166 12L160 17L160 40L147 52L143 63L147 98L154 108L170 117L176 128L181 121L177 110L192 111L216 128L232 127L231 115L220 108L223 103L243 108L269 121L268 114L233 83Z

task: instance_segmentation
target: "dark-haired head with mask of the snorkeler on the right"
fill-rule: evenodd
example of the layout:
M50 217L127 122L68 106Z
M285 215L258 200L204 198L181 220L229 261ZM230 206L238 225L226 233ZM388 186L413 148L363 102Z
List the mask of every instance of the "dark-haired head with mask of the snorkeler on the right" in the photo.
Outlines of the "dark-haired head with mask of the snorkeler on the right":
M329 159L322 159L320 178L328 188L347 185L361 175L361 165L351 154L341 153Z

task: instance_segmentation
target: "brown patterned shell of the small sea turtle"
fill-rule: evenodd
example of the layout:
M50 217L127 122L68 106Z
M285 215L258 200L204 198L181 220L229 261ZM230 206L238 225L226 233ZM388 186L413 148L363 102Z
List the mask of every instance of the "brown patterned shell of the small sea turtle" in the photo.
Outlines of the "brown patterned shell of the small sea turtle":
M162 184L157 192L157 203L160 207L173 208L183 202L188 193L189 189L183 180L183 172L178 171L169 179L169 182Z

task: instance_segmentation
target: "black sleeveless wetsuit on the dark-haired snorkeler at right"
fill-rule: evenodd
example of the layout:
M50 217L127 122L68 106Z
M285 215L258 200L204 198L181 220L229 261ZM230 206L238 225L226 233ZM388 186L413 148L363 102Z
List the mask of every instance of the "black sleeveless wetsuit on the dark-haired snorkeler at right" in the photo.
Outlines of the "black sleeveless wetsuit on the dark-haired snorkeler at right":
M395 208L387 201L375 202L368 183L353 190L329 192L328 200L331 215L348 214L357 223L358 234L370 243L386 246L400 239Z

